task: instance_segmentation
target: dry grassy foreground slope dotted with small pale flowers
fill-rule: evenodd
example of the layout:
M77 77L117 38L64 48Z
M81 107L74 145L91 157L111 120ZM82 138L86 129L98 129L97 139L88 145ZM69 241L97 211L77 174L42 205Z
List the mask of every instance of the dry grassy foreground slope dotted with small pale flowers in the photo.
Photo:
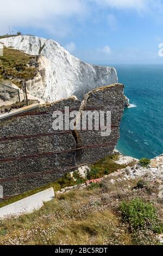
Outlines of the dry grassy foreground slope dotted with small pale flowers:
M135 193L135 184L136 181L124 181L112 184L110 190L104 180L104 187L73 189L57 195L39 211L0 221L0 245L157 244L156 235L148 228L132 231L122 221L121 201L143 198L149 193L145 189Z

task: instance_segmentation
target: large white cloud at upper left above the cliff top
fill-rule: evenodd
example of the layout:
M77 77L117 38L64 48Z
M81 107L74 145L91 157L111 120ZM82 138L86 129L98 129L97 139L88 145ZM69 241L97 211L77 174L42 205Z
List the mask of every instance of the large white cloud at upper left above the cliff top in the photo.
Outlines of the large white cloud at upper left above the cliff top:
M0 0L0 34L15 27L41 28L49 34L65 36L70 19L80 19L86 8L82 0Z

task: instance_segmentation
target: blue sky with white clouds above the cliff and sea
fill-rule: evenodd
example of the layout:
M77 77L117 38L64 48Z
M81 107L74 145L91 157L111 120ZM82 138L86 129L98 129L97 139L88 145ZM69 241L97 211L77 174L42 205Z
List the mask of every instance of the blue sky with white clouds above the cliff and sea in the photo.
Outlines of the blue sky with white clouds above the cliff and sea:
M89 63L163 64L163 0L0 0L0 13L0 34L53 39Z

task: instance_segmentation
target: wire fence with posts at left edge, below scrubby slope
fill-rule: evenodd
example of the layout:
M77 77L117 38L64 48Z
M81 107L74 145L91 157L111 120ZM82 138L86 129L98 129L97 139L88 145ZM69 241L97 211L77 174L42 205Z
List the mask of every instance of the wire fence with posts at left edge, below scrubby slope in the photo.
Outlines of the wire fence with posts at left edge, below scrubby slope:
M15 102L20 102L19 90L12 88L8 85L3 85L1 83L0 83L0 102L6 102L7 100L10 100L10 98L8 97L9 92L17 94L17 97L14 97L14 98L16 98Z

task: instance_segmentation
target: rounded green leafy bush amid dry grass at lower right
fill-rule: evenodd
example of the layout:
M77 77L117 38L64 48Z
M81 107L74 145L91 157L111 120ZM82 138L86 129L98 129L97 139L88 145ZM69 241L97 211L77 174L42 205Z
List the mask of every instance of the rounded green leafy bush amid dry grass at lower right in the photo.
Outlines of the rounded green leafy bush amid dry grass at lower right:
M134 229L149 226L157 221L155 207L139 198L130 202L123 201L120 210L123 221L128 222L129 226Z

